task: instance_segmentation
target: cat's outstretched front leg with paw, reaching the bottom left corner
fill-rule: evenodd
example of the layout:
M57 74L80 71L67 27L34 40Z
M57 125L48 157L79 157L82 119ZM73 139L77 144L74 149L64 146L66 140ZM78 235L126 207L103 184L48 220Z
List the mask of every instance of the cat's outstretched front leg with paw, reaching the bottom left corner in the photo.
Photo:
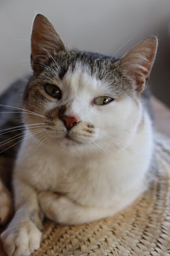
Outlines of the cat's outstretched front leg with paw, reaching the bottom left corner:
M1 234L8 256L28 256L40 246L42 221L35 190L23 180L14 180L15 215Z

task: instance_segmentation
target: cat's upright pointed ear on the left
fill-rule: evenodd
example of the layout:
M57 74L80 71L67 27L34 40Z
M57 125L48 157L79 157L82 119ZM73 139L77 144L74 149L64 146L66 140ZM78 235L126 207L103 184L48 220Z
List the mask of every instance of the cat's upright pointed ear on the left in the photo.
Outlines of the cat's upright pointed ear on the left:
M66 47L51 22L42 14L33 21L31 34L31 67L39 71L51 56L66 51Z

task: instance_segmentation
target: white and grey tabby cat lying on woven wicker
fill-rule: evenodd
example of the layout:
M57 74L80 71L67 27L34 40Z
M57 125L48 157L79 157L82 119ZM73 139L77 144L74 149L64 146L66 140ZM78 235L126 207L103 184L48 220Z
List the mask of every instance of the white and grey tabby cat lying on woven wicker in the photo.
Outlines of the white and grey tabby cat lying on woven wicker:
M92 222L113 216L148 188L154 143L143 91L156 51L155 36L120 59L68 50L51 22L35 17L33 75L1 101L2 110L17 99L8 108L17 113L3 115L4 124L17 117L20 138L11 161L15 215L1 234L8 256L38 249L44 215L60 224ZM5 170L9 158L3 157ZM2 191L8 201L4 223L11 199L4 184ZM1 191L0 200L2 215Z

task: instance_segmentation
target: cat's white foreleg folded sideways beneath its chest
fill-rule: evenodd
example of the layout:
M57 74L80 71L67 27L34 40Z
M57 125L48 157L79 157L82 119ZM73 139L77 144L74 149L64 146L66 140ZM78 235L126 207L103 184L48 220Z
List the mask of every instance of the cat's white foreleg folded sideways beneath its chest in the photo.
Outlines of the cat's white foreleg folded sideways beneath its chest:
M60 224L83 224L112 216L115 213L114 207L87 207L76 204L64 195L57 195L50 191L39 193L38 200L44 214Z

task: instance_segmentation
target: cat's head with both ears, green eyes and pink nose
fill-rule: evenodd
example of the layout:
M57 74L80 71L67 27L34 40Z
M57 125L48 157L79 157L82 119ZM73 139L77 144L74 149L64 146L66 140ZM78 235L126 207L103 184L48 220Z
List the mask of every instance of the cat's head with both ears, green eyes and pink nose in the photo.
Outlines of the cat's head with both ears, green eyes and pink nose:
M51 22L38 14L24 108L39 115L24 114L26 124L40 123L45 130L35 136L51 147L104 153L108 144L122 147L118 141L128 142L142 120L140 95L156 49L157 38L151 36L119 60L68 50Z

